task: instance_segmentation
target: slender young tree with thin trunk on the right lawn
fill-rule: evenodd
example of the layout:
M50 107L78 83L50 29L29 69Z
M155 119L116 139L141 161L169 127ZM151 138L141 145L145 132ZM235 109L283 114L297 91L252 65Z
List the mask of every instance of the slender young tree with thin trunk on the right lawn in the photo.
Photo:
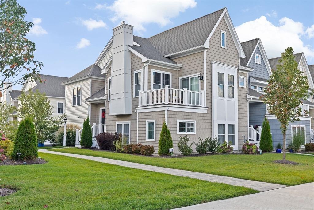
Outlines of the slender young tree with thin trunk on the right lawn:
M308 79L298 69L293 49L287 48L281 54L277 70L272 70L268 85L261 99L268 104L268 112L276 116L283 133L283 160L286 159L286 131L289 123L299 121L300 117L308 114L302 112L301 99L307 99L309 88Z

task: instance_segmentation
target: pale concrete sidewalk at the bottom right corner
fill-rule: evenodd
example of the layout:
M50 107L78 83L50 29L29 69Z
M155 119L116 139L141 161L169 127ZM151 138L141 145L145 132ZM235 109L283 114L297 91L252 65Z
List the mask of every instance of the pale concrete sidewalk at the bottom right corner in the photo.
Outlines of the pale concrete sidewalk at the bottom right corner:
M211 209L314 209L314 182L285 187L267 192L201 203L176 210Z

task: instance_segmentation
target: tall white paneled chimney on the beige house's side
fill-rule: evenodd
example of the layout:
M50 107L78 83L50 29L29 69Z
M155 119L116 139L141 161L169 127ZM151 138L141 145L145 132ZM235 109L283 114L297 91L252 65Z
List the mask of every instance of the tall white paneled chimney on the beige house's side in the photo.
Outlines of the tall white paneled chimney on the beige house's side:
M121 21L113 30L111 95L109 115L132 114L131 94L131 52L127 46L133 46L133 26Z

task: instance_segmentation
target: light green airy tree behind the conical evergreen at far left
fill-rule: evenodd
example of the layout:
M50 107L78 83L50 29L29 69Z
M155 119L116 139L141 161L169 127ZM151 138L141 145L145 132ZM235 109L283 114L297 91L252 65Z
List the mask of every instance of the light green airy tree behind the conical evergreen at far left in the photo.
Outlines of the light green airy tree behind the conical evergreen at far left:
M35 93L29 90L27 94L21 94L19 101L19 117L33 120L38 143L55 139L55 133L61 126L64 115L52 115L52 106L46 95L38 90Z

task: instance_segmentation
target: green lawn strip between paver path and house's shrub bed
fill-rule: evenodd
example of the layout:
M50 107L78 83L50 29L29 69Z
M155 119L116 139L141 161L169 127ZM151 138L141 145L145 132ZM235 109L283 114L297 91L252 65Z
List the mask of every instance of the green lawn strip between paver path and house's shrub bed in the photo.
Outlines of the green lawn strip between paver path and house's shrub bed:
M314 157L307 155L287 154L287 160L295 161L301 164L284 165L272 162L273 160L282 159L282 154L273 152L264 153L262 155L226 154L192 156L183 158L157 158L80 148L52 150L81 155L106 157L160 167L230 176L241 179L285 184L290 186L314 182Z

